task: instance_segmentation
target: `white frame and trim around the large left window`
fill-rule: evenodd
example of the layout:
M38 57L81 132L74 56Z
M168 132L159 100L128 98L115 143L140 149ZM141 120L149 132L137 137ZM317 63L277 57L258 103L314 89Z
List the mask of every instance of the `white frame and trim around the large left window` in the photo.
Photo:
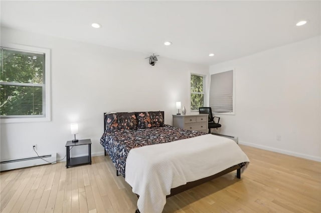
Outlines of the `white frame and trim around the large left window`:
M6 44L1 47L31 53L45 53L45 92L43 92L43 110L45 110L44 115L10 115L10 116L1 116L1 123L15 123L15 122L41 122L41 121L50 121L51 120L51 92L50 92L50 76L51 76L51 51L48 48L27 46L21 44ZM8 83L5 83L8 84ZM18 84L18 83L17 83ZM45 105L45 106L44 106Z

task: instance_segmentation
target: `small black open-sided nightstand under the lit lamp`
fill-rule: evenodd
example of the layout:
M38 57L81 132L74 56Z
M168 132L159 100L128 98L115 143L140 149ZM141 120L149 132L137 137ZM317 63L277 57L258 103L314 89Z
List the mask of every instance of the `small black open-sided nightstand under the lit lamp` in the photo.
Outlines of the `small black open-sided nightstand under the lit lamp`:
M70 146L74 145L88 145L88 155L81 157L70 157ZM68 140L66 143L66 167L81 164L91 164L91 140L83 139L78 140L78 142L72 142L72 140Z

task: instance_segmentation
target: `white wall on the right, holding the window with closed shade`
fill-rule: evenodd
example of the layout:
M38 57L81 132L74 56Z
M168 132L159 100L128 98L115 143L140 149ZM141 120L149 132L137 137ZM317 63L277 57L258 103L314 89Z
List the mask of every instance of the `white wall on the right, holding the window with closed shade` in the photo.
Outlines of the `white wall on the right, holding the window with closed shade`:
M212 65L210 74L230 68L236 114L217 114L218 131L243 144L321 161L320 37Z

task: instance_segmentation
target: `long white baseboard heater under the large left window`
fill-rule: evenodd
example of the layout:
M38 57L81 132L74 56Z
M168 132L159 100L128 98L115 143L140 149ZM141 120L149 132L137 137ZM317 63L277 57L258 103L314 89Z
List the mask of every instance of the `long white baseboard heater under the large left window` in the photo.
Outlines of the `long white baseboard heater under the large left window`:
M46 162L45 160L48 162ZM35 157L25 157L20 159L10 159L10 160L3 160L0 162L0 170L11 170L16 168L23 168L35 165L42 165L42 164L49 164L49 162L56 163L57 161L57 153L40 155Z

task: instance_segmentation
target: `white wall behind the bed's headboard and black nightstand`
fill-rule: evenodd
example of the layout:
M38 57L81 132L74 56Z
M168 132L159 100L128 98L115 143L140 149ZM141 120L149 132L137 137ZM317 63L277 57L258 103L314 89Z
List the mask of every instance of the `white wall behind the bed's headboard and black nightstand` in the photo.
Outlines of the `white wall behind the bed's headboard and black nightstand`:
M71 140L70 123L78 122L77 138L91 138L92 154L103 154L103 112L164 110L172 124L175 102L189 110L190 72L208 74L208 66L158 57L155 66L142 53L49 37L8 28L1 30L1 45L18 43L51 49L50 122L1 124L1 160L40 154L65 155ZM73 148L74 155L86 148Z

